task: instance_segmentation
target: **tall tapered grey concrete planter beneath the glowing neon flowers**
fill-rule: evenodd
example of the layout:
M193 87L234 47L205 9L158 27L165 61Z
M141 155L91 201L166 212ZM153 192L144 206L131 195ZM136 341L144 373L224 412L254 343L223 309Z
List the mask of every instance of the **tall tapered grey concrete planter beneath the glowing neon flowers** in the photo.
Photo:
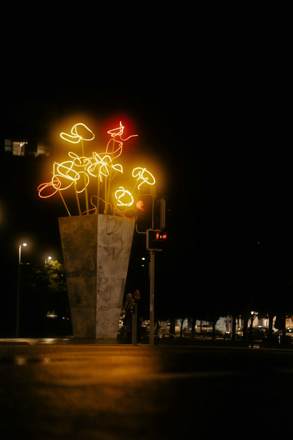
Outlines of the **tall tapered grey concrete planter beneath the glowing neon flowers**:
M58 220L73 336L116 338L134 221L102 214Z

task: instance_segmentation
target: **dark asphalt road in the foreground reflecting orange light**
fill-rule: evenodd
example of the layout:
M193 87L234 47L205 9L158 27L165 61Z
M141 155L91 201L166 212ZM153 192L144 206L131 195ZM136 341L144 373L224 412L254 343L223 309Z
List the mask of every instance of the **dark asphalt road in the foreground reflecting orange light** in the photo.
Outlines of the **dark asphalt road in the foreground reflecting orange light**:
M288 434L292 361L292 350L0 342L1 437Z

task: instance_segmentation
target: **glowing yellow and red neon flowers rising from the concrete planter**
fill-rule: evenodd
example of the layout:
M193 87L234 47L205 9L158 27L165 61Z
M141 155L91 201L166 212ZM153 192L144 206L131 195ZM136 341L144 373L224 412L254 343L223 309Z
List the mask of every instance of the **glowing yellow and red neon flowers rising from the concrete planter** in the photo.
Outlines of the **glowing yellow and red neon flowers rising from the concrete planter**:
M103 207L101 209L105 215L112 213L112 215L117 214L127 218L127 220L131 220L135 215L134 208L131 209L131 206L134 204L134 192L139 192L139 189L143 184L154 185L155 178L145 168L134 168L132 176L136 178L136 181L133 190L130 192L127 189L124 189L124 187L119 186L118 189L112 193L113 206L112 203L110 203L111 182L117 173L120 172L123 174L122 165L114 163L114 161L122 153L123 142L130 139L130 137L137 136L132 135L123 139L121 136L124 128L125 127L120 121L118 128L109 130L107 133L110 135L110 140L107 144L106 150L102 153L93 152L90 157L85 156L83 148L83 141L91 141L94 139L94 133L90 128L82 123L78 123L72 127L71 134L62 132L60 136L67 142L74 144L81 143L82 155L79 156L78 154L69 151L68 155L70 160L62 163L54 162L52 180L51 182L41 183L38 186L37 189L39 196L41 198L48 198L58 192L70 216L71 214L69 213L69 209L61 191L68 190L73 186L79 215L89 215L90 211L93 214L98 214L100 212L100 202L102 202L104 209ZM93 194L90 198L91 205L94 207L92 209L89 209L87 196L87 187L90 183L90 179L97 179L97 193ZM104 198L100 197L102 189L103 194L105 194ZM79 194L83 192L85 194L86 210L81 212ZM94 199L97 199L96 203L94 203ZM128 213L126 216L125 213L127 210Z

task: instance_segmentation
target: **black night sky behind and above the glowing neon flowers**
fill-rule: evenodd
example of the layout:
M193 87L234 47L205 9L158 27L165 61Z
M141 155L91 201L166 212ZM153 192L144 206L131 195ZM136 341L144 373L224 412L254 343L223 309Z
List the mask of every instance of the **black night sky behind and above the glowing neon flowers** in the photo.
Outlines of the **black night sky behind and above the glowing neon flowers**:
M56 133L80 117L97 139L112 122L128 122L127 135L138 138L128 152L125 143L125 158L156 164L172 238L158 264L176 278L172 294L190 294L195 267L225 273L257 245L268 272L280 261L292 268L289 19L283 6L265 7L7 8L3 139L51 146L49 158L13 164L1 151L9 276L23 235L33 242L24 259L62 259L58 216L66 213L36 187L51 180Z

